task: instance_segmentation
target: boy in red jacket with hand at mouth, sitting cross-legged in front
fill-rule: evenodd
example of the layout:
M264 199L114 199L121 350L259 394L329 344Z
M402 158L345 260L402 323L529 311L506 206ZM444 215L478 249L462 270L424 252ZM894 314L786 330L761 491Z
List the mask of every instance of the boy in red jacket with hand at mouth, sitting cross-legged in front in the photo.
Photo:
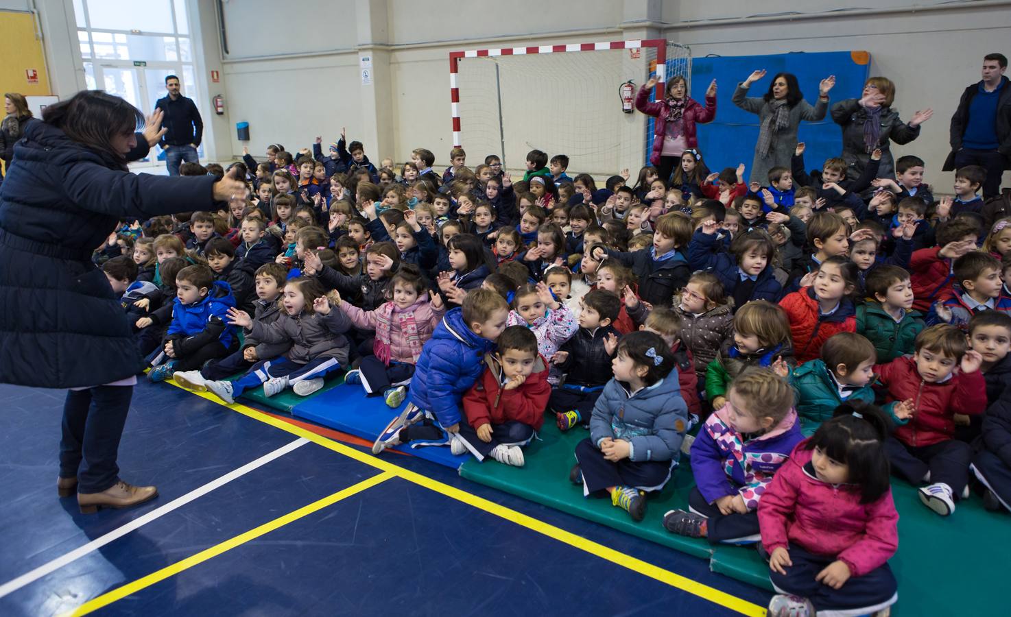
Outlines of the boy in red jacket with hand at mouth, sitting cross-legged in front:
M454 454L470 451L523 467L523 448L544 423L551 386L548 364L537 353L537 336L515 325L498 336L497 351L484 356L480 379L463 397L466 422L450 442Z

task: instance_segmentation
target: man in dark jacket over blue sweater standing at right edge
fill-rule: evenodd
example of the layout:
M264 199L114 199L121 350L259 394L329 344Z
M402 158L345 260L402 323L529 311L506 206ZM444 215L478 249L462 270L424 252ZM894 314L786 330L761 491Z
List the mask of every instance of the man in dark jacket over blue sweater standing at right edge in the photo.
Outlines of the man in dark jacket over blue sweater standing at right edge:
M942 171L967 165L986 168L983 195L997 197L1004 170L1011 170L1011 84L1004 72L1008 59L1003 54L983 58L983 80L961 94L951 116L951 153Z

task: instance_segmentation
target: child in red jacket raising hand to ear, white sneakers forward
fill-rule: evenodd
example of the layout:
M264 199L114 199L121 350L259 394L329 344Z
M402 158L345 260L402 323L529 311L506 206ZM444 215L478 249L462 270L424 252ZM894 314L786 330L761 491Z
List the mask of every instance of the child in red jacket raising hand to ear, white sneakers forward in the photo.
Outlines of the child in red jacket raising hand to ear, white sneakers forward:
M896 429L885 447L892 472L920 488L920 501L947 516L969 482L973 448L954 438L954 414L982 414L987 384L980 373L983 356L969 348L966 335L952 325L937 324L916 337L916 352L875 367L888 389L889 405L904 405L913 417ZM960 371L954 373L955 367ZM893 414L902 417L905 414Z

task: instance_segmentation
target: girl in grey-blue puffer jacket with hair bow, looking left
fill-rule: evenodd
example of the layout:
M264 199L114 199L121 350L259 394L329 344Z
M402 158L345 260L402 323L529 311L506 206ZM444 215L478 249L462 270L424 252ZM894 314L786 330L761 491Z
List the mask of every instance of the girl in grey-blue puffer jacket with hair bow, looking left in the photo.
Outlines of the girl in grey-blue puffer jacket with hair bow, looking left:
M615 377L593 406L589 438L575 446L569 480L583 496L607 491L612 504L641 521L645 492L662 489L677 465L688 409L659 334L626 334L611 366Z

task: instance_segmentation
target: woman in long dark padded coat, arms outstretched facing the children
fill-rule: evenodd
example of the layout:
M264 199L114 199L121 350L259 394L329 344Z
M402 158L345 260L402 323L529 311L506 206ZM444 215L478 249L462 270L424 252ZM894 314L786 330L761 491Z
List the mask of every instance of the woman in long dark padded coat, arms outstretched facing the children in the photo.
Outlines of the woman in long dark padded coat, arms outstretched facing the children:
M131 174L164 133L161 112L100 91L45 108L14 147L0 188L0 383L68 388L60 444L61 496L82 512L158 494L119 480L116 452L142 358L126 315L92 250L120 220L209 210L245 198L226 178Z

